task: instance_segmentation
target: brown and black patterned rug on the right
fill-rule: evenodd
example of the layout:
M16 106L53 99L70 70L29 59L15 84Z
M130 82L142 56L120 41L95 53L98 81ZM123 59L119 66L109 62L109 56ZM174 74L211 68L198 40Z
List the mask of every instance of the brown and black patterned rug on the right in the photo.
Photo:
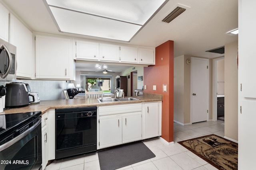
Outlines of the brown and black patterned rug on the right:
M238 169L237 143L214 134L178 143L219 170Z

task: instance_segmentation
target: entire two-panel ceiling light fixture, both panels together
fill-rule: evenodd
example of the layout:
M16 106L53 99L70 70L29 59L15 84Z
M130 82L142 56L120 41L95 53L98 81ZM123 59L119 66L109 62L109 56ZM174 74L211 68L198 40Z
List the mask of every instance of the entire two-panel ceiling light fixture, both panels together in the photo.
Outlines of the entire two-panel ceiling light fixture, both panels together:
M130 41L168 0L45 0L59 31Z

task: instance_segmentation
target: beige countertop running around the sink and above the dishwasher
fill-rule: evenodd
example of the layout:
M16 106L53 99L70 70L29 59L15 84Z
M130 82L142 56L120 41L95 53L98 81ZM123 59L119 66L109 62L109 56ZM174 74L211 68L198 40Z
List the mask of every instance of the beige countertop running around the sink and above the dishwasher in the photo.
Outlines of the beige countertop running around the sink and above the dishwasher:
M58 109L58 108L69 108L69 107L86 107L86 106L108 106L108 105L117 105L117 104L132 104L132 103L142 103L142 102L155 102L161 101L161 94L151 94L144 93L143 96L132 96L139 100L132 101L120 101L120 102L107 102L99 103L97 99L70 99L70 100L44 100L40 101L38 104L30 104L26 107L6 109L0 115L11 114L11 113L23 113L23 112L32 112L32 111L42 111L45 113L48 109Z

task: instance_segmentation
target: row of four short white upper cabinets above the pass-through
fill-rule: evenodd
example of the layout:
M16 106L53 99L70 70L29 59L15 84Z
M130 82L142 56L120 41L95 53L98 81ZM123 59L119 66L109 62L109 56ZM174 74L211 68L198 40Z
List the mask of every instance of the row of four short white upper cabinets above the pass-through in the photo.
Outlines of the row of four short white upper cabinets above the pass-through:
M76 40L76 57L87 61L155 64L154 48L138 48L118 44Z

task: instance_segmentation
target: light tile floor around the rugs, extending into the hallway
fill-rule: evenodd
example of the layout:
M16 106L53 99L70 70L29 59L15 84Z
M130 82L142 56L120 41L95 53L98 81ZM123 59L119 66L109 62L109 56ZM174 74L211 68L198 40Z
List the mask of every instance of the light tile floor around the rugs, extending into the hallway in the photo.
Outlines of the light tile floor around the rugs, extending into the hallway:
M224 137L224 121L208 121L192 125L174 122L174 144L160 138L144 141L156 157L132 164L119 170L217 170L202 158L178 144L178 141L208 134ZM98 153L56 160L46 170L100 170Z

